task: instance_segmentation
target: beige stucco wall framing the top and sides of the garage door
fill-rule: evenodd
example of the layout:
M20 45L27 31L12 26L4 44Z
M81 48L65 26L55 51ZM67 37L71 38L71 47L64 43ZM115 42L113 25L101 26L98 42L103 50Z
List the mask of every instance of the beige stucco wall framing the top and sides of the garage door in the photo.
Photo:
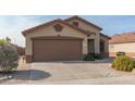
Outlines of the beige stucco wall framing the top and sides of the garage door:
M61 24L62 25L62 24ZM33 54L33 42L30 38L35 37L41 37L41 36L66 36L66 37L77 37L77 38L83 38L83 53L87 53L87 35L82 34L78 30L75 30L69 26L63 25L62 31L58 33L54 30L52 27L53 25L50 25L48 27L44 27L40 29L36 29L33 33L29 33L26 35L26 55L32 55ZM95 38L95 36L93 36Z

